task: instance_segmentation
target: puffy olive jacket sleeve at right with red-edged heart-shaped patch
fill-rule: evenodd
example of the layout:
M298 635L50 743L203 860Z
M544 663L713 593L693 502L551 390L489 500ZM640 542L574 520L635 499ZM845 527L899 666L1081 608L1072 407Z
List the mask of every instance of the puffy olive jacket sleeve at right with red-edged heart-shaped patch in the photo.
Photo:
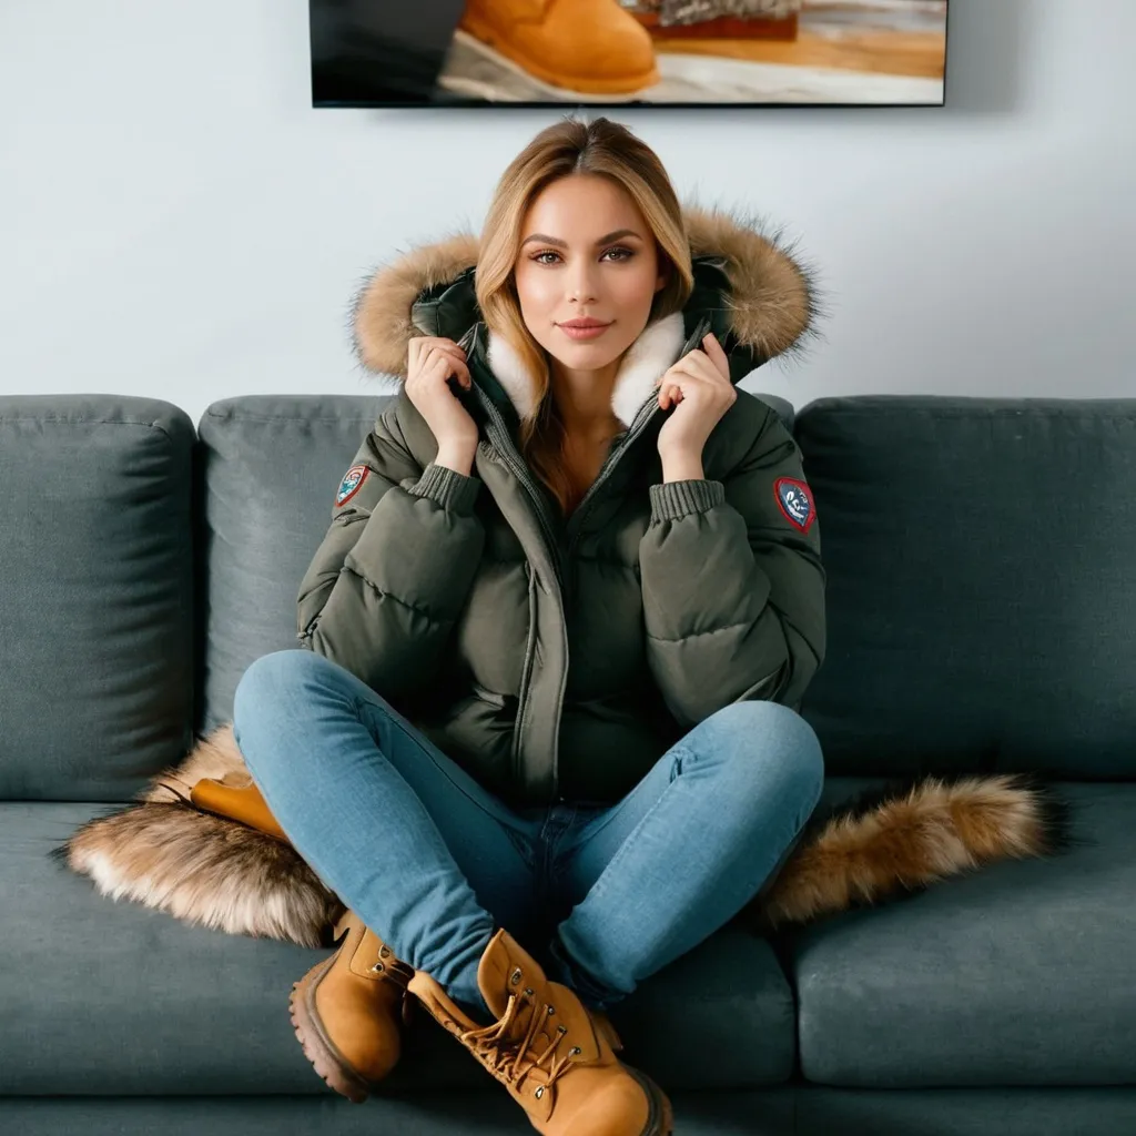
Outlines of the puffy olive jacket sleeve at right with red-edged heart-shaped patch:
M824 660L816 507L796 441L768 410L722 481L650 486L640 541L646 658L684 729L730 702L796 710Z

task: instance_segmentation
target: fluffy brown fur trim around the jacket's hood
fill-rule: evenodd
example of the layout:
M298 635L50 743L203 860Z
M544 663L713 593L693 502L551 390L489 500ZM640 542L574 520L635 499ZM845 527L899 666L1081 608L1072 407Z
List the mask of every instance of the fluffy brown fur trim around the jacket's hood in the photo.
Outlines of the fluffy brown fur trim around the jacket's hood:
M799 348L815 328L818 286L813 270L779 231L741 210L683 206L692 257L720 259L729 281L722 296L738 346L758 362ZM478 239L454 233L379 267L352 308L356 351L365 367L404 378L407 346L421 334L410 309L421 292L453 281L477 264ZM755 364L757 365L757 364Z

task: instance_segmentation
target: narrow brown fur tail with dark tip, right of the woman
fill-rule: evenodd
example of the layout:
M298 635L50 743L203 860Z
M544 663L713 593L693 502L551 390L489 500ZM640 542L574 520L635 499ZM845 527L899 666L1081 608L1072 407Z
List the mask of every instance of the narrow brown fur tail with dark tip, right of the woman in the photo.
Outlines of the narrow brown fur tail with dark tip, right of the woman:
M1041 774L910 775L818 809L747 914L762 930L869 907L996 860L1083 841L1071 803Z

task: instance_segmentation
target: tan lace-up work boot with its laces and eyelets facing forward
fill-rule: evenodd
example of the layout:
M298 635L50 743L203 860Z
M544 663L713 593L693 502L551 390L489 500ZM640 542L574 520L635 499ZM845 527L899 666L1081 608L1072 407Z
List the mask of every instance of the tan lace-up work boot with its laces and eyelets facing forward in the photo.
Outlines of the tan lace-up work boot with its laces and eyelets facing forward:
M569 987L545 978L503 927L482 954L477 986L496 1017L488 1026L469 1018L423 970L408 989L509 1089L537 1131L670 1136L670 1101L615 1055L611 1024Z

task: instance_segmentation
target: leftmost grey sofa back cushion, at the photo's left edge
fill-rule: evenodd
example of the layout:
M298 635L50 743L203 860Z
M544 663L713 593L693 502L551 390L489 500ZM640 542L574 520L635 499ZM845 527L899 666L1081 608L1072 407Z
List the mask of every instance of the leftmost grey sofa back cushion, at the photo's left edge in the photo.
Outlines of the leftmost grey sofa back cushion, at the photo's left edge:
M185 752L193 423L0 396L0 800L120 802Z

